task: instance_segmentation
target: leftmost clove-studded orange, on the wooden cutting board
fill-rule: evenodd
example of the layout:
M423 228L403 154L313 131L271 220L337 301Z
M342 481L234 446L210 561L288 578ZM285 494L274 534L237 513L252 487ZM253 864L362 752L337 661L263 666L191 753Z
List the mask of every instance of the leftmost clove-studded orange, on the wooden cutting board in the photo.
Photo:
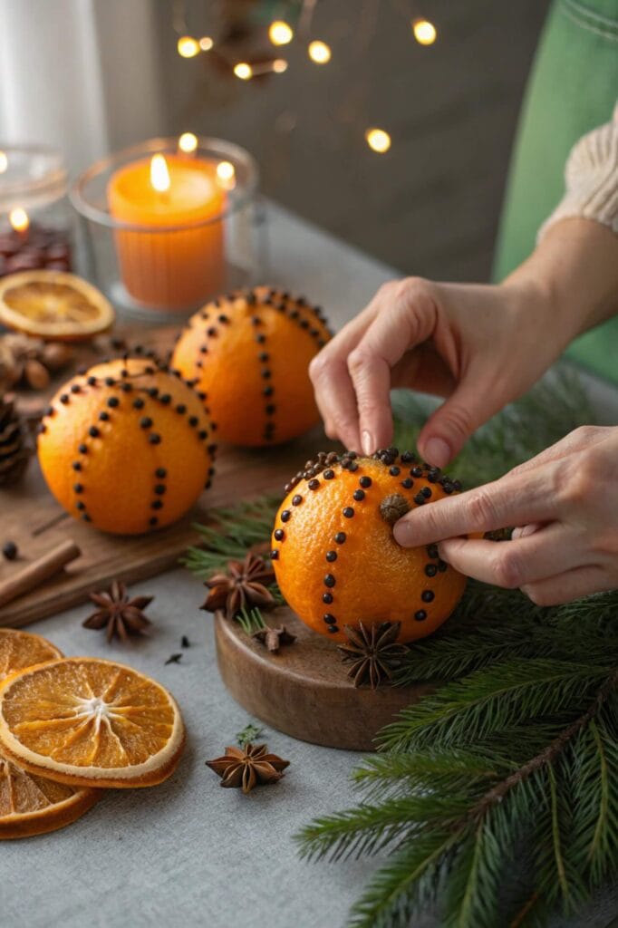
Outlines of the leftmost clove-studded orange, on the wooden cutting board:
M61 506L104 532L137 535L179 519L212 477L202 397L147 357L91 367L45 411L38 455Z

